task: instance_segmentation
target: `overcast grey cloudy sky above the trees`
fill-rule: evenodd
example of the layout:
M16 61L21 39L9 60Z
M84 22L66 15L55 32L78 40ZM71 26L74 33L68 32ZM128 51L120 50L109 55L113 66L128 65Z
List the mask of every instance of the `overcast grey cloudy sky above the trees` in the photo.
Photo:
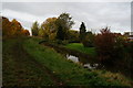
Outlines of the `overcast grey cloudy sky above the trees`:
M79 30L84 22L88 31L99 32L110 26L112 32L131 31L130 2L3 2L2 15L17 19L30 30L32 23L42 23L47 18L70 13L75 22L73 30Z

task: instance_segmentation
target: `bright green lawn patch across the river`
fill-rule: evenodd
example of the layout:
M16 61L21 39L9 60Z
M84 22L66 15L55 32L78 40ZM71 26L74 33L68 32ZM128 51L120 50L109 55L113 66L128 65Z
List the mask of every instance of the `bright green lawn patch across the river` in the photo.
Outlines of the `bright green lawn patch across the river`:
M71 43L65 45L66 48L71 48L71 50L75 50L79 51L81 53L85 53L92 56L96 55L95 48L94 47L84 47L83 44L81 43Z

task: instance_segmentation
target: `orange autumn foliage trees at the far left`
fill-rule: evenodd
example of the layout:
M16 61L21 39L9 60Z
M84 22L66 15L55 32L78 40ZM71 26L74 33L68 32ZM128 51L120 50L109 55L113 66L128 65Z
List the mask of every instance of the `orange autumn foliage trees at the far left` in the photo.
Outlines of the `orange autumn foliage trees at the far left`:
M2 36L3 37L17 37L30 35L28 30L24 30L20 22L13 19L11 22L2 16Z

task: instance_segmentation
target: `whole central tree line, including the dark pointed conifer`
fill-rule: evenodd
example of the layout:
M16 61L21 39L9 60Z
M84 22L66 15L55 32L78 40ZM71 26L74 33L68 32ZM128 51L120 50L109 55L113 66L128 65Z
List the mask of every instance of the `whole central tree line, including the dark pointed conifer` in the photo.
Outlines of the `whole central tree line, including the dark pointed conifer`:
M33 36L41 36L47 41L82 42L84 46L93 46L91 42L94 34L91 31L86 32L83 22L80 25L80 32L71 30L73 24L72 16L69 13L62 13L58 18L48 18L41 25L35 21L31 26L31 32Z

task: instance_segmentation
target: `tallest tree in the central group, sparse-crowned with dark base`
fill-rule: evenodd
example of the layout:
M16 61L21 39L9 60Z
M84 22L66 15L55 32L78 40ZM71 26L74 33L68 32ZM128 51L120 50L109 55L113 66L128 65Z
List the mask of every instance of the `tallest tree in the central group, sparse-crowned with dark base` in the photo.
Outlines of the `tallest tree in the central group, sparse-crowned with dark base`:
M69 30L74 24L70 14L69 13L60 14L59 18L57 19L55 24L58 28L57 38L62 40L62 41L66 40Z

